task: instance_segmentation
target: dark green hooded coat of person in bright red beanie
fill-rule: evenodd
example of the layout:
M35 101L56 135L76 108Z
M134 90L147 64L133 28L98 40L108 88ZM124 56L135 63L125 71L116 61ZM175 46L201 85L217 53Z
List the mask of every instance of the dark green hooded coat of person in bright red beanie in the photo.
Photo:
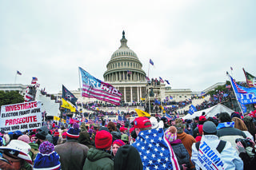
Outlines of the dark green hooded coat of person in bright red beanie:
M90 148L83 170L114 170L114 161L110 153L97 148Z

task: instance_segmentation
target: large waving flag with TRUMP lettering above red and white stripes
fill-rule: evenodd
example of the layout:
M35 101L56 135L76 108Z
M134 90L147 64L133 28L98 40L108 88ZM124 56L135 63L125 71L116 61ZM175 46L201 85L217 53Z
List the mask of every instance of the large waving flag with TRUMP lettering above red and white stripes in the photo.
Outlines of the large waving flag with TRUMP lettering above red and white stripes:
M81 67L79 67L79 70L82 77L82 97L97 98L114 105L120 105L122 93L118 89L91 76Z

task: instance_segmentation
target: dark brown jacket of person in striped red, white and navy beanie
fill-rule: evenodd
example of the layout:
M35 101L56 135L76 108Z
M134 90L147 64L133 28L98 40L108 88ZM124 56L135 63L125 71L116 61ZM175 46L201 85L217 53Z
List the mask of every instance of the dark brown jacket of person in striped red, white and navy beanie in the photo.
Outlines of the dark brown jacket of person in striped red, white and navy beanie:
M67 139L65 144L55 146L55 151L60 156L62 170L82 170L88 150L86 145L79 144L78 140L74 139Z

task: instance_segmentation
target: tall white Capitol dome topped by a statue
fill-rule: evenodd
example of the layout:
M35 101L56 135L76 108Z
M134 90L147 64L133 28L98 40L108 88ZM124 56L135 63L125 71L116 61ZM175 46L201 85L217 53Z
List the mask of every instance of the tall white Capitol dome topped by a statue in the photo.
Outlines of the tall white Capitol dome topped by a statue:
M121 46L111 56L103 77L108 82L145 81L146 73L137 54L127 46L125 32L122 31Z

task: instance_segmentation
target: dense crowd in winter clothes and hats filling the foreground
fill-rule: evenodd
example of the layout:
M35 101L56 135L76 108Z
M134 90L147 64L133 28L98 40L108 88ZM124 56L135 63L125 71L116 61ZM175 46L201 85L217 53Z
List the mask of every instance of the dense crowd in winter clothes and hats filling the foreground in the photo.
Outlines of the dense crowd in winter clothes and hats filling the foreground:
M254 169L254 118L136 117L120 126L55 122L0 133L0 169ZM207 118L206 118L207 117Z

